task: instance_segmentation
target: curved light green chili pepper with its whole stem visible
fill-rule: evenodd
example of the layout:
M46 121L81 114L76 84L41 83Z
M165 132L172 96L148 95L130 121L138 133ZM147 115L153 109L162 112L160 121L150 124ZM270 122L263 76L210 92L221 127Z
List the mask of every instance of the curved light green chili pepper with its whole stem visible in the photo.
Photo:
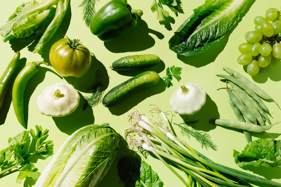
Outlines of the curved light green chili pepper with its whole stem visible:
M46 62L42 62L42 61L27 63L25 67L20 71L13 84L12 101L13 101L14 110L18 122L20 122L20 124L25 129L27 128L27 126L24 121L24 113L23 113L24 91L29 79L38 72L40 64L49 65Z

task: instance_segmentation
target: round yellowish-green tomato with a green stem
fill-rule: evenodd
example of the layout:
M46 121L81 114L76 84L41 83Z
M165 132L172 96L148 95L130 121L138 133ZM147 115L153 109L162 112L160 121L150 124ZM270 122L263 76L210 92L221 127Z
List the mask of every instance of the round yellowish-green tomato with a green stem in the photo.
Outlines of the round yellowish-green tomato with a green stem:
M79 40L63 38L53 44L50 62L59 75L82 77L91 66L91 53Z

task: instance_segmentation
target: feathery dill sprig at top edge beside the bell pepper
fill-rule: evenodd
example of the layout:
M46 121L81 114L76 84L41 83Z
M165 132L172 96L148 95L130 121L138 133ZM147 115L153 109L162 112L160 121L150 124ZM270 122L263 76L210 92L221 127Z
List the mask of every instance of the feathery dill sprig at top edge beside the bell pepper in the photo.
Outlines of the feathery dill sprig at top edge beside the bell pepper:
M94 17L96 11L95 6L99 0L83 0L79 7L83 9L83 20L87 27L89 27L92 18Z

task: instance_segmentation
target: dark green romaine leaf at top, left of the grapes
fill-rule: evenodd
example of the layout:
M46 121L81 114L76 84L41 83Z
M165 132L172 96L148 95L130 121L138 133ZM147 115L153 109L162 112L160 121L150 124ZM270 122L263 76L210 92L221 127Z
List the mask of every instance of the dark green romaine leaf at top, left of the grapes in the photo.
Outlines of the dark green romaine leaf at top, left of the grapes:
M169 40L175 53L192 56L220 41L237 23L249 0L206 0Z

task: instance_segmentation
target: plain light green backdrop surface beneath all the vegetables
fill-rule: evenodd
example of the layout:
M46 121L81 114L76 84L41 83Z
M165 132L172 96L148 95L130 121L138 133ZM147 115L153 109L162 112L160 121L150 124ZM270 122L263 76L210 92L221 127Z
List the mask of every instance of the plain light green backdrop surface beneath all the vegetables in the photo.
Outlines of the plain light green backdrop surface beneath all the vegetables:
M202 108L200 112L196 115L191 116L190 119L198 119L199 123L196 125L196 129L209 131L210 136L213 141L217 144L217 152L213 150L204 150L194 139L184 138L193 148L196 148L198 151L208 156L215 162L218 162L229 167L240 169L235 163L232 157L233 149L241 151L246 145L246 139L244 134L239 131L233 131L225 129L222 127L215 127L214 125L208 124L209 120L213 118L224 118L224 119L233 119L236 117L232 112L228 104L228 96L225 90L217 91L217 88L225 86L224 83L220 82L220 78L216 77L216 74L225 73L222 70L222 67L230 67L238 72L242 73L249 79L252 79L247 75L243 67L237 64L236 59L239 56L239 51L237 47L240 43L244 41L244 33L254 29L253 18L256 15L264 15L265 10L271 7L280 8L280 1L278 0L256 0L253 3L252 7L242 18L238 26L232 31L232 33L227 36L212 49L208 50L201 55L189 58L177 58L177 54L169 50L168 41L172 37L173 32L181 25L181 23L192 14L193 8L196 8L204 3L204 0L196 1L183 1L183 10L184 14L180 14L179 17L175 17L173 13L171 15L175 18L175 23L172 24L172 31L165 29L164 25L160 25L156 20L156 13L150 11L150 4L152 0L145 1L135 1L131 0L129 4L134 9L143 10L144 14L142 20L139 22L140 25L137 27L137 30L134 30L128 36L113 41L107 44L100 41L96 36L92 35L90 30L85 26L82 20L82 11L81 8L78 8L82 0L71 1L71 6L66 15L66 18L63 20L62 26L59 28L59 32L54 36L52 41L46 46L45 49L50 49L52 43L62 38L62 34L66 31L66 35L70 38L79 38L85 46L90 49L92 53L95 54L95 57L100 61L107 70L109 76L109 85L106 91L109 91L112 87L128 79L128 76L119 75L117 72L110 70L109 66L111 63L123 56L135 55L135 54L157 54L165 63L165 66L180 66L182 67L182 80L180 82L173 81L174 86L163 91L162 82L157 86L154 86L150 89L145 89L145 91L140 91L134 96L130 97L128 100L124 101L123 104L113 108L108 109L102 105L98 105L95 108L87 108L82 112L81 108L78 108L76 112L67 117L52 118L40 114L37 109L36 99L41 91L46 87L53 85L57 82L66 82L65 79L60 79L53 72L47 71L46 67L40 67L39 73L34 76L34 78L29 82L25 96L28 100L30 97L28 105L28 129L34 128L36 124L42 125L43 128L48 128L49 139L54 141L54 152L58 150L61 144L66 140L66 138L74 132L76 129L88 125L88 124L102 124L108 122L111 127L113 127L118 133L123 134L123 130L128 126L127 122L127 113L131 106L138 109L142 113L148 114L150 109L150 104L156 104L162 110L172 110L169 106L169 98L171 94L177 89L181 84L185 83L196 83L202 86L202 88L208 94L206 105ZM12 1L1 1L0 6L0 24L3 25L8 16L11 15L16 7L24 3L22 0L12 0ZM97 3L98 8L103 6L107 1L101 0L100 3ZM251 1L253 2L253 1ZM71 8L71 13L70 13ZM165 7L166 8L166 7ZM71 18L71 20L70 20ZM70 22L70 24L69 24ZM69 27L68 27L69 24ZM148 26L147 26L147 25ZM148 33L149 32L149 33ZM159 33L158 33L159 32ZM154 33L154 34L153 34ZM165 37L161 39L162 33ZM158 38L155 34L158 35ZM18 48L17 41L13 42L13 47ZM108 48L108 49L107 49ZM109 51L111 50L111 51ZM11 44L9 42L2 43L0 42L0 51L1 51L1 68L0 74L4 72L6 66L14 55L14 51L11 49ZM28 51L27 47L24 48L21 52L21 58L26 58L27 62L30 61L40 61L43 58L39 54L33 54ZM48 60L48 51L43 54L44 59ZM123 52L123 53L119 53ZM95 63L99 64L97 60L94 60ZM24 59L22 60L24 62ZM184 61L184 62L183 62ZM95 65L94 63L94 65ZM202 67L201 67L202 66ZM51 70L52 67L49 67ZM95 66L93 66L95 68ZM157 70L162 71L164 68L159 67ZM280 80L281 80L281 65L271 66L268 72L259 74L253 77L258 86L264 89L269 93L277 103L281 104L280 98ZM165 71L160 72L160 76L165 76ZM89 82L91 80L88 80ZM87 81L85 82L85 84ZM83 83L80 83L80 86L83 86ZM11 94L11 91L9 92ZM86 93L81 92L82 95L86 96ZM11 97L7 99L11 101ZM140 100L143 100L139 103ZM6 104L7 105L7 104ZM273 113L274 120L273 123L281 121L280 110L273 103L267 103L268 108ZM7 106L6 106L7 108ZM26 107L27 108L27 107ZM8 110L8 108L7 108ZM123 112L120 112L120 111ZM119 112L118 112L119 111ZM25 111L27 112L27 110ZM116 114L112 114L112 113ZM1 111L0 120L4 120L4 113L6 111ZM124 113L121 114L120 113ZM174 117L174 122L182 122L182 119L179 115ZM14 136L24 129L18 123L16 116L13 111L13 105L11 104L6 121L3 125L0 126L0 148L4 148L8 145L8 138ZM176 128L176 132L180 135L179 130ZM268 131L273 133L272 135L276 138L281 133L280 125L276 125ZM261 134L253 134L256 138L268 137L262 136ZM280 139L280 138L277 138ZM109 170L108 174L104 177L104 180L98 185L99 187L105 186L123 186L117 175L117 161L123 155L134 155L133 152L129 152L126 148L125 141L121 141L119 152L116 155L116 159ZM35 163L39 171L42 172L44 167L48 164L51 157L47 160L38 160L38 163ZM164 186L179 186L183 187L179 179L168 169L166 168L159 160L155 158L148 157L146 160L152 168L159 174L160 178L164 182ZM268 168L249 168L251 171L249 173L261 174L268 179L273 181L281 182L279 179L281 177L281 169L268 169ZM242 169L240 169L242 170ZM253 172L252 172L253 171ZM16 177L18 173L11 174L0 179L0 186L28 186L25 184L16 184Z

